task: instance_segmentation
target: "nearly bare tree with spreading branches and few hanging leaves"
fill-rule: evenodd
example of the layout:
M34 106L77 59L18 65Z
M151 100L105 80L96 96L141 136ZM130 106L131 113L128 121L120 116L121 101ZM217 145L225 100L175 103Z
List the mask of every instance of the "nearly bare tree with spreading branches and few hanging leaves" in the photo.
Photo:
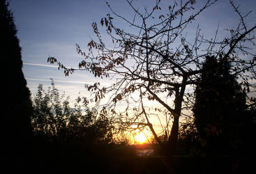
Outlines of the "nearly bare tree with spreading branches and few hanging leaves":
M119 123L123 129L148 127L156 141L166 147L167 155L172 157L182 110L188 109L193 102L193 90L188 90L188 87L197 84L206 55L216 56L220 61L227 58L233 65L232 73L241 77L241 83L248 90L250 78L255 79L256 57L250 52L250 46L255 46L253 31L256 25L248 29L245 22L248 13L242 15L232 0L229 3L238 15L239 22L236 29L227 30L230 34L228 37L218 40L217 29L213 39L207 40L200 34L199 27L193 42L182 34L203 10L216 1L204 1L200 8L195 8L194 0L185 3L174 1L172 6L165 7L166 13L160 6L160 0L153 8L144 7L143 10L136 7L135 2L126 0L134 14L131 19L119 15L107 3L112 14L103 17L100 25L106 27L109 38L103 39L94 22L92 27L96 39L89 42L88 52L83 52L77 45L77 53L84 56L79 68L66 68L54 57L49 57L48 61L57 63L66 75L75 70L86 70L95 77L115 79L111 86L100 87L97 83L86 85L86 88L95 94L96 102L108 94L109 100L102 112L111 113L113 122ZM128 27L119 29L118 23L114 24L117 19L126 22ZM112 40L112 46L109 46L109 40ZM123 112L117 111L120 102L126 104ZM168 136L166 145L151 124L152 114L157 118L162 117L159 120L166 120L166 124L162 125L163 132L167 132Z

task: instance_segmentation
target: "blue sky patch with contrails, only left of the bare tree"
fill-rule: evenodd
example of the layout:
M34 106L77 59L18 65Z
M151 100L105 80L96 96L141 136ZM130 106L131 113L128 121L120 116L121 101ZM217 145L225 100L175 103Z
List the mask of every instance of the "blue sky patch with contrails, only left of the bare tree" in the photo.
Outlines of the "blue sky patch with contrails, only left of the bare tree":
M15 16L23 72L31 93L36 92L38 84L49 86L50 78L59 90L71 96L85 92L85 83L96 81L84 72L65 77L62 70L47 63L47 57L56 56L68 66L77 66L81 57L76 54L75 43L89 42L93 35L91 23L107 13L105 1L12 0L10 8Z

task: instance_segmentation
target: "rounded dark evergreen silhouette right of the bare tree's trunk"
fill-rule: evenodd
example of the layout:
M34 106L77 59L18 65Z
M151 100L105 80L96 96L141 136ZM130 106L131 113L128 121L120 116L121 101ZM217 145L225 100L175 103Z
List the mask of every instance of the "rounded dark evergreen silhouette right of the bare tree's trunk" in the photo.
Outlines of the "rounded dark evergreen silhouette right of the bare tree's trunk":
M227 59L206 56L193 112L203 144L211 152L232 148L246 109L246 93Z

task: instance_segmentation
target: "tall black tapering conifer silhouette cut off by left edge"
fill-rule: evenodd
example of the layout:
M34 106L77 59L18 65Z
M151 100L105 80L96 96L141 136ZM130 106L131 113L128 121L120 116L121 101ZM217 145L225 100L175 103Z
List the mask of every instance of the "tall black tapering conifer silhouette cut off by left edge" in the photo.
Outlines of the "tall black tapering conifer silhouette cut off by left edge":
M0 1L1 24L1 145L10 155L25 152L31 135L32 104L27 81L22 72L22 55L13 14L8 2Z

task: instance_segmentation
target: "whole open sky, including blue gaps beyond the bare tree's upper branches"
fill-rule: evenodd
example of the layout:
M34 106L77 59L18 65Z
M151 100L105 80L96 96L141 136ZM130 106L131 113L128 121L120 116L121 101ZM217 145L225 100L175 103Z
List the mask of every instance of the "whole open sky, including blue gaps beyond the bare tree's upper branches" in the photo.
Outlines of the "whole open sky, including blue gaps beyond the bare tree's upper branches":
M172 2L162 0L160 6L167 9ZM204 2L196 0L196 6ZM253 10L246 22L248 26L255 24L256 1L234 2L240 5L243 13ZM112 9L121 15L133 17L125 1L109 0L109 3ZM134 3L143 10L145 6L152 8L156 0L134 0ZM56 66L47 63L48 56L54 56L68 67L77 67L82 61L82 56L77 55L75 44L84 48L92 38L95 38L92 22L100 24L100 19L110 13L105 0L10 0L10 9L22 47L22 70L32 95L36 94L38 84L50 86L50 78L54 79L59 90L65 91L71 98L89 95L84 84L94 84L96 81L111 84L109 79L102 81L88 72L75 72L65 77L63 70L57 70ZM199 24L202 33L211 38L218 25L220 29L230 29L236 26L238 20L229 1L221 0L197 17L186 32L187 35L195 35L195 28ZM114 19L114 22L120 27L126 27L117 19ZM225 31L222 31L220 36L225 35Z

